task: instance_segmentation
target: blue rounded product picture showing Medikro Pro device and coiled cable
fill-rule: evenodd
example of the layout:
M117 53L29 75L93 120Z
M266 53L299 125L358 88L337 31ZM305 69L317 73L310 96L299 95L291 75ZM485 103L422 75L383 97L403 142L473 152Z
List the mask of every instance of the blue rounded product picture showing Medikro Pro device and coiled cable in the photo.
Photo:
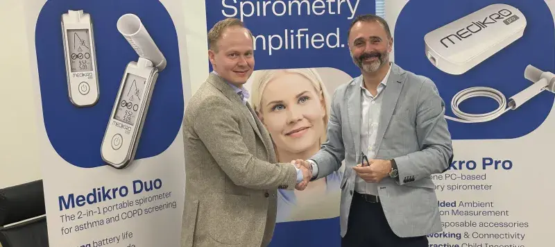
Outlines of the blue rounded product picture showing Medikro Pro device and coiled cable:
M438 87L453 139L522 137L552 108L555 31L543 0L411 0L394 39L395 62Z

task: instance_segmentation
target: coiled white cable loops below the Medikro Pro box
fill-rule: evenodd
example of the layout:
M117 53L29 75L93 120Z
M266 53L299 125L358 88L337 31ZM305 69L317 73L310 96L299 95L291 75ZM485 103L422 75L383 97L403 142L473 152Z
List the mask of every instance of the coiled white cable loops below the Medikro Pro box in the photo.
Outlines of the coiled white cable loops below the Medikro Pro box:
M480 96L494 99L499 104L499 107L491 112L481 114L470 114L459 109L459 105L466 99ZM496 119L511 108L506 107L505 96L501 92L499 92L499 90L495 90L491 87L470 87L466 90L462 90L461 92L456 93L453 96L453 99L451 100L451 109L453 111L453 114L455 114L456 117L459 118L457 119L454 117L445 116L445 119L450 119L452 121L458 121L461 123L481 123Z

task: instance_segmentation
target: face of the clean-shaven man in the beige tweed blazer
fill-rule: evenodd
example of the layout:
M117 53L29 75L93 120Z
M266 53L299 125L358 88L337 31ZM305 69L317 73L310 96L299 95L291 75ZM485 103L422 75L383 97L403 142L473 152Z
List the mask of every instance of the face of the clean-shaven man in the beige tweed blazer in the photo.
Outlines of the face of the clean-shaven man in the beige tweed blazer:
M208 51L214 71L229 83L241 87L255 67L253 39L246 28L232 26L223 31L215 51Z

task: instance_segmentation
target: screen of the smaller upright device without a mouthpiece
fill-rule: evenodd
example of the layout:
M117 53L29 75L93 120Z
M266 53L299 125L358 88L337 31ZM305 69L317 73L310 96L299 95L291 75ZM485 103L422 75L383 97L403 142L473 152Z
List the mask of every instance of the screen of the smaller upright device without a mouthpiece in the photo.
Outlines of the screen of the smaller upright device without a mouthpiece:
M88 29L67 31L71 72L92 71L91 41Z

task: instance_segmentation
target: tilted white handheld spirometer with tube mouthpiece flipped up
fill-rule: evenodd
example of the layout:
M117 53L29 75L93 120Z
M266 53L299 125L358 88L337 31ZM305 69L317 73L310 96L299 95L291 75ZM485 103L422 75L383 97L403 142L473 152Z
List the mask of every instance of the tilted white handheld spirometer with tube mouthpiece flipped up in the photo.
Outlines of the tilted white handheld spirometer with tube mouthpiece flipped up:
M139 60L129 62L123 73L102 140L101 156L108 165L123 169L135 157L158 72L166 67L166 59L136 15L121 16L117 29Z

